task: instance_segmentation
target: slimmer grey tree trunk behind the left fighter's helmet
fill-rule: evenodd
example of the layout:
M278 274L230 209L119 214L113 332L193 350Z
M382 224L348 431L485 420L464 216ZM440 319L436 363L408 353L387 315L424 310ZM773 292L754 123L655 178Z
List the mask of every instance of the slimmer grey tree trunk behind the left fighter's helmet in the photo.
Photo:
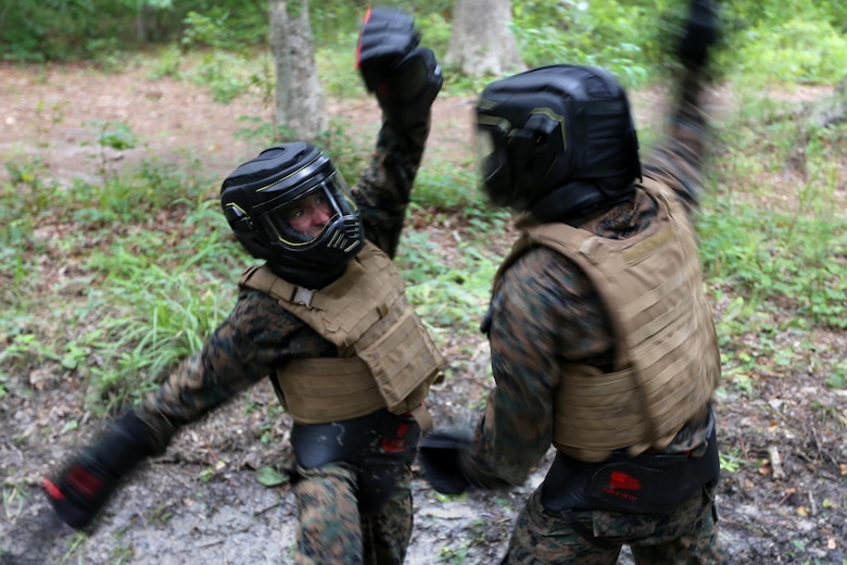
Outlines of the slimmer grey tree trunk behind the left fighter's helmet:
M329 120L315 66L306 0L268 0L276 63L275 126L280 141L315 141Z

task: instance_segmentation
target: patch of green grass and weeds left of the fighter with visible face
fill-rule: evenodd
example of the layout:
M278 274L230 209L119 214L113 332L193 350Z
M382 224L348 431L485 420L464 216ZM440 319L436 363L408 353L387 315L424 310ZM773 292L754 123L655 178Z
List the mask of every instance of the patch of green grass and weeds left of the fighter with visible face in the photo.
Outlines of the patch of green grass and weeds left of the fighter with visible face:
M7 171L0 397L13 375L54 362L88 382L97 410L122 404L197 350L231 306L230 273L243 258L198 166L153 158L69 187L42 180L37 158Z

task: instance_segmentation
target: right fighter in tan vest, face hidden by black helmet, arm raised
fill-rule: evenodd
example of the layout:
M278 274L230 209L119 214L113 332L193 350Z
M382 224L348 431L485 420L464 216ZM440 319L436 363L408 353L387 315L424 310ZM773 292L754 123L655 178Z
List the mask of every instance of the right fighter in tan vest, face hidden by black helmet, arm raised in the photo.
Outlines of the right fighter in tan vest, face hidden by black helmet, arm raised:
M496 386L476 429L435 429L435 490L521 485L553 447L501 562L720 563L720 379L696 236L701 90L716 2L692 0L668 137L640 164L623 89L598 68L496 80L477 104L483 190L520 235L482 324Z

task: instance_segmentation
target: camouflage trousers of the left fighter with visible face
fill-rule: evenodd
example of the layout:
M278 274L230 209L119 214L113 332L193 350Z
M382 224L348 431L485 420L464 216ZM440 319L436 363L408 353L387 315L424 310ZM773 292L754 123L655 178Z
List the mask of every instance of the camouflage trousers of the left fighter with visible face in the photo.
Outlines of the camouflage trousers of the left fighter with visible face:
M346 463L298 468L294 562L299 565L400 565L412 537L412 470L406 466L378 514L358 512L356 470Z

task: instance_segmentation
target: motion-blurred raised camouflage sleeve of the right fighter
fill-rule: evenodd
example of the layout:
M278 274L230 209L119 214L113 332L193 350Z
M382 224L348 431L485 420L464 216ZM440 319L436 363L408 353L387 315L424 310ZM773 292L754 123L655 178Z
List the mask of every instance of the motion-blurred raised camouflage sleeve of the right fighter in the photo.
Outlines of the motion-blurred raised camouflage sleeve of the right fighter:
M668 133L644 161L644 173L671 188L688 208L699 203L700 171L710 141L709 123L699 102L703 78L688 74L681 85Z

